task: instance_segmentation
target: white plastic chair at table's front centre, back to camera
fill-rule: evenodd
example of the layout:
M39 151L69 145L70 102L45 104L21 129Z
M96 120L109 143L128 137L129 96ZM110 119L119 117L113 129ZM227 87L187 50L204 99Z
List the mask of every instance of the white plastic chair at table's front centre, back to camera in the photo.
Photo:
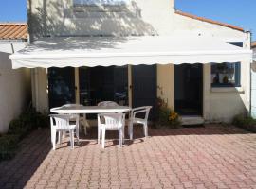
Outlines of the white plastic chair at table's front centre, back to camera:
M124 141L124 125L124 113L98 114L98 144L101 143L101 147L104 148L106 130L119 130L119 146L121 147Z

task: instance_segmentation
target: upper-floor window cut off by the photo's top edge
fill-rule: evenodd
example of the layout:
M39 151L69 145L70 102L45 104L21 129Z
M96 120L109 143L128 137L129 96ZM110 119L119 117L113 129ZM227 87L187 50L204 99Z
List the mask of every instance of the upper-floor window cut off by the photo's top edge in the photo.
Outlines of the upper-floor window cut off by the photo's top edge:
M108 5L119 6L127 4L129 0L74 0L75 6Z

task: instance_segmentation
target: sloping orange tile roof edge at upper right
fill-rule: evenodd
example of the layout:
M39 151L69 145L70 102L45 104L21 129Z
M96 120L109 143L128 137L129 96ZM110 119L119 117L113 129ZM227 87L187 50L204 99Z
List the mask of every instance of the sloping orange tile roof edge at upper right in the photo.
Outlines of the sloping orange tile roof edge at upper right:
M207 19L207 18L195 16L195 15L192 15L192 14L187 13L187 12L182 12L182 11L176 10L175 13L179 14L179 15L182 15L182 16L190 17L190 18L195 19L195 20L207 22L207 23L210 23L210 24L219 25L219 26L226 26L226 27L236 29L236 30L239 30L239 31L245 31L242 27L239 27L239 26L232 26L232 25L229 25L229 24L220 23L218 21L213 21L213 20L210 20L210 19Z

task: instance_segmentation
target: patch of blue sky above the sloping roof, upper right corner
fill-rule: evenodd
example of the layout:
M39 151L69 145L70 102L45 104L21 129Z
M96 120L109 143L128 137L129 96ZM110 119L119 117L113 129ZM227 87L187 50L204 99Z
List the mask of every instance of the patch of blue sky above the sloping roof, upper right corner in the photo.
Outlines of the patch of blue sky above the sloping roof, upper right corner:
M256 0L175 0L175 8L251 30L256 40Z

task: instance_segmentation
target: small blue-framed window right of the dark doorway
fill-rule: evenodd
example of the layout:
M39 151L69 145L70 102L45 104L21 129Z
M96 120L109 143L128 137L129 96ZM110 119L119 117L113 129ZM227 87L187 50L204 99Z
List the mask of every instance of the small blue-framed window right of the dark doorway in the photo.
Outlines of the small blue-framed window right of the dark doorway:
M241 63L211 63L211 87L239 87Z

